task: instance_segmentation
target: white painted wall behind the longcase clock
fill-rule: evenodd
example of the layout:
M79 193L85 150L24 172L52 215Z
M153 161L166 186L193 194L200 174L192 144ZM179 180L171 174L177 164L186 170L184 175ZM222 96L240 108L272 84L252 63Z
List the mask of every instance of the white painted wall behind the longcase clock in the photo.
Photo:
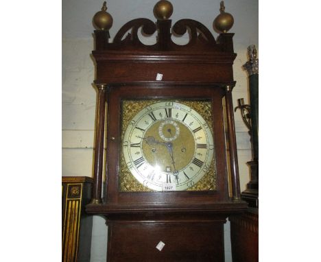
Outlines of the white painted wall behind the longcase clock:
M62 176L93 176L93 137L95 128L96 93L92 86L95 74L91 59L93 50L93 14L100 10L103 1L62 1ZM155 20L152 8L156 1L108 1L108 12L114 17L110 30L113 38L119 27L130 19L146 17ZM215 38L212 22L218 14L219 1L172 0L173 22L181 18L191 18L204 23ZM248 60L246 48L257 45L258 49L258 3L257 0L225 1L226 12L233 14L235 25L230 32L235 33L234 44L237 58L233 66L237 85L233 91L233 104L238 98L248 103L248 80L241 66ZM182 39L184 42L184 39ZM246 162L251 160L250 137L235 113L237 132L237 152L241 191L246 189L249 171ZM224 227L226 235L226 262L231 261L229 224ZM106 261L107 228L102 217L93 219L93 239L91 262Z

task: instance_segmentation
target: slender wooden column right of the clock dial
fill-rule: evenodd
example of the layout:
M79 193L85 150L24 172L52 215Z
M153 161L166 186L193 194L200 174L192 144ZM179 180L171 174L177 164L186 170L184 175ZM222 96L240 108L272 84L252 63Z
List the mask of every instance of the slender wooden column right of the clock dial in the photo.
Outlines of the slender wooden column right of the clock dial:
M225 86L226 117L228 124L228 145L230 150L230 171L232 177L233 200L240 199L239 164L237 160L237 143L232 100L232 86Z

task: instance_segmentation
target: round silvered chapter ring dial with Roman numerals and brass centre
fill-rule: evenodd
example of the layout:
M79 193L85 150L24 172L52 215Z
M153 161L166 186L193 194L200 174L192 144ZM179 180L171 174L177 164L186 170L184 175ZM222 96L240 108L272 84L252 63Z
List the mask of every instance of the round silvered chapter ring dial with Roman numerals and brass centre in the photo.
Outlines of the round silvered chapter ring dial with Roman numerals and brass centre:
M213 135L203 117L178 102L156 102L139 111L123 136L123 158L136 180L154 191L193 187L213 159Z

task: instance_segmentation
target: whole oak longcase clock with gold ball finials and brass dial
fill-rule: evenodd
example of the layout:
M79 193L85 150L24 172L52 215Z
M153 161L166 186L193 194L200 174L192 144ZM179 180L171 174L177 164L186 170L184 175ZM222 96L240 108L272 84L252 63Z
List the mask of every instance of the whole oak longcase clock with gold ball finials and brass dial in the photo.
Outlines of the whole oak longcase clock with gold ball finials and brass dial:
M224 261L226 217L246 209L233 118L233 34L224 25L215 40L191 19L171 26L172 11L159 1L156 23L129 21L112 43L106 5L94 17L97 121L86 212L106 217L107 261ZM229 17L222 6L220 15ZM139 30L156 33L156 43L141 43ZM187 45L173 42L186 32Z

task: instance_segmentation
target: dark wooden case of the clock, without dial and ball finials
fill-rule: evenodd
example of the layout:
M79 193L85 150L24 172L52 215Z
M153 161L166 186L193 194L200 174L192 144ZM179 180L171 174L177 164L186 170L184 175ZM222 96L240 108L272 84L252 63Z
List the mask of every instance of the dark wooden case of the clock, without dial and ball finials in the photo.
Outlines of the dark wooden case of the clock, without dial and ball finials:
M138 29L152 35L155 45L143 45ZM176 45L172 33L190 33L187 45ZM126 36L126 32L130 33ZM217 40L198 21L134 19L123 25L113 43L109 33L95 31L97 122L94 190L86 211L105 215L108 261L224 261L226 217L246 210L239 196L239 174L233 117L233 34ZM163 80L156 81L157 73ZM213 107L217 156L216 191L121 192L118 187L120 102L126 97L206 98ZM228 193L224 108L226 99L232 195ZM107 112L107 113L106 113ZM106 119L107 118L107 119ZM106 126L104 125L106 121ZM106 163L104 163L104 133ZM106 165L102 196L102 170ZM156 249L163 241L163 250Z

